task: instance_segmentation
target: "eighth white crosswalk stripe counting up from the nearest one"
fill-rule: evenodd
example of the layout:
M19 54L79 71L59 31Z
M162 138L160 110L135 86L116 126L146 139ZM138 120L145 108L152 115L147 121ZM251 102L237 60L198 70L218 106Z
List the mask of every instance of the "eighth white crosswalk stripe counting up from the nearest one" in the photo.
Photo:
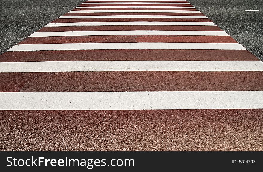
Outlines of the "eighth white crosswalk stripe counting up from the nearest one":
M195 7L180 7L180 6L88 6L76 8L195 8Z

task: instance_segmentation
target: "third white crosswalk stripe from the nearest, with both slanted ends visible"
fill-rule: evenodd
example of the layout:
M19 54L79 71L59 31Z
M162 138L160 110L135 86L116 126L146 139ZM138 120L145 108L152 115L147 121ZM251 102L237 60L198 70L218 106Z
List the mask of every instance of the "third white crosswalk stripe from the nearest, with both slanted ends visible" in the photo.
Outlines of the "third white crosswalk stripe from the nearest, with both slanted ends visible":
M238 43L65 43L65 44L18 44L7 51L46 51L46 50L92 50L92 49L224 49L245 50Z

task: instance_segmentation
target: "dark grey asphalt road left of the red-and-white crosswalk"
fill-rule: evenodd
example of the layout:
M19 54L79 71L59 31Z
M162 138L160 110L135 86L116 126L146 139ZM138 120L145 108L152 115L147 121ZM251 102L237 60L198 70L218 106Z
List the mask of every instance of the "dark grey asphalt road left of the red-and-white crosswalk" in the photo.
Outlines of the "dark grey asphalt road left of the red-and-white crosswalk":
M0 54L85 0L28 0L0 3Z

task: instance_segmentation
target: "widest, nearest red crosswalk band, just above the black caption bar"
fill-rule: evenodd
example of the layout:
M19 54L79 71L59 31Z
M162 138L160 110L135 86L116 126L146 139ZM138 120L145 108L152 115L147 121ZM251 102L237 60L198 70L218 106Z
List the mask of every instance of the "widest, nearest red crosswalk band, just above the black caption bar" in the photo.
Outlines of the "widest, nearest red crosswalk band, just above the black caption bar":
M0 111L0 149L262 151L262 114L263 109Z

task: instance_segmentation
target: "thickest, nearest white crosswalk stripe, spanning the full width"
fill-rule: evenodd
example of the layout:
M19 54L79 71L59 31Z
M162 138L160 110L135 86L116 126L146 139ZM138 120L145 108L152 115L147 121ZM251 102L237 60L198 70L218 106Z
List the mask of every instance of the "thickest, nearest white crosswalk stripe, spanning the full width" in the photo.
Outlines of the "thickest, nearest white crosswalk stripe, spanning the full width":
M1 92L1 110L261 109L263 91Z

